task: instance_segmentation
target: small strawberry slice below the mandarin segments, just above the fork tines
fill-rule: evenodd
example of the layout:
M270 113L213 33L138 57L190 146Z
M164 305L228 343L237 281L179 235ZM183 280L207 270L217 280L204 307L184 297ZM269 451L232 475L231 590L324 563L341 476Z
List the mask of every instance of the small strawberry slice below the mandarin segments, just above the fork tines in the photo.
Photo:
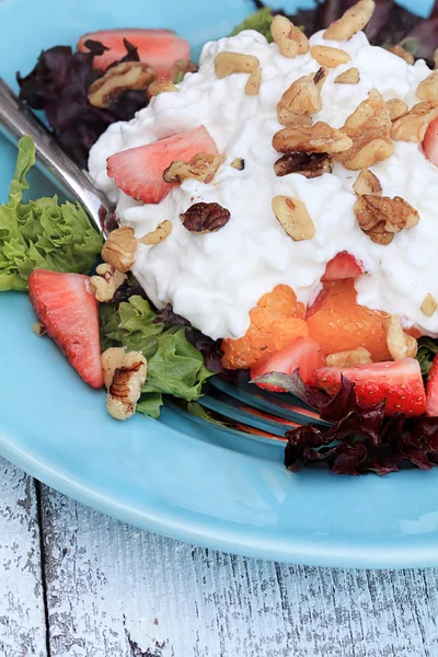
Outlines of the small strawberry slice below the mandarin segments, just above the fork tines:
M251 368L251 379L269 372L292 374L299 369L304 383L312 385L314 370L323 367L324 362L320 345L311 337L299 337L291 345L273 354L267 360ZM285 392L279 385L270 383L257 383L257 385L270 392Z

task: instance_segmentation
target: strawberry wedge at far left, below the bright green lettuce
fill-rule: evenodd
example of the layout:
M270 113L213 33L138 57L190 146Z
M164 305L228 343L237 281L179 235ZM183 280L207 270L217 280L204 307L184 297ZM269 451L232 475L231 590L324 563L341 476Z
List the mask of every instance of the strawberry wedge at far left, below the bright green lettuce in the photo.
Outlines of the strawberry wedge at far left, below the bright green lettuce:
M28 295L35 314L70 365L93 388L102 388L97 301L89 276L35 269Z

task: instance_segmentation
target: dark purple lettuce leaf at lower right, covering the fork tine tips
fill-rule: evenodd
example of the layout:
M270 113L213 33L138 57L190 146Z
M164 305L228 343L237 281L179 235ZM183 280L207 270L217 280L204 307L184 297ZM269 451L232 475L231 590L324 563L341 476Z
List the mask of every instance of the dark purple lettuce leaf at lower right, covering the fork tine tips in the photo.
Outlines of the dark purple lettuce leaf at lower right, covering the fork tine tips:
M384 402L365 408L347 379L342 380L335 396L325 395L325 400L297 373L289 379L291 392L298 392L322 419L332 423L328 427L311 423L287 431L285 465L292 472L320 461L336 474L354 475L384 475L406 464L429 470L438 464L438 418L403 413L385 417Z

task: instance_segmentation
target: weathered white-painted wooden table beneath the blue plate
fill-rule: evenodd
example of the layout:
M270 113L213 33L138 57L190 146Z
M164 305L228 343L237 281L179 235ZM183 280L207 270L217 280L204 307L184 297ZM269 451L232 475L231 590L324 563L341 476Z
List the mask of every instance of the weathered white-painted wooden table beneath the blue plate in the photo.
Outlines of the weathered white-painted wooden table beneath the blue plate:
M0 459L0 657L437 657L438 570L193 548Z

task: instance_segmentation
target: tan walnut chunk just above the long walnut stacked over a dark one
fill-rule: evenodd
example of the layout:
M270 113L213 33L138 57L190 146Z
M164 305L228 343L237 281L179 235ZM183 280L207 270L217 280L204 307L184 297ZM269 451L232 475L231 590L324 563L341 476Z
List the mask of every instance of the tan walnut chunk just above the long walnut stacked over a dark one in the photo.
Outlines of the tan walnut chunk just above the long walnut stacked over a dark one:
M325 69L321 74L299 78L285 91L277 104L277 117L284 126L297 123L297 115L316 114L322 110L321 89L316 82L325 80ZM319 71L318 71L319 73Z

